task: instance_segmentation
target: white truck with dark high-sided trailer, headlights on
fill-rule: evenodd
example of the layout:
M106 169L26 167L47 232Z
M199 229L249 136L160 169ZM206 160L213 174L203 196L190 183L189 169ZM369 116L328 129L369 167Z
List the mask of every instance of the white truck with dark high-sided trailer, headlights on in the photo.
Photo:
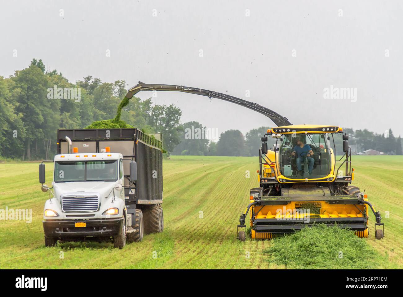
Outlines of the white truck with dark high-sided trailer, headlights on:
M58 155L39 165L49 192L45 246L62 241L112 241L123 248L162 232L162 135L133 129L58 130ZM45 164L54 162L52 186Z

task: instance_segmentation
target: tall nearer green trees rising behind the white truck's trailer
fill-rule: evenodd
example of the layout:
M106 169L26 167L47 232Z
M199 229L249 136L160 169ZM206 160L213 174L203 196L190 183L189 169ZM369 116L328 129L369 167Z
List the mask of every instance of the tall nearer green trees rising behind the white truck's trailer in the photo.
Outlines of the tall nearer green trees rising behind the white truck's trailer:
M113 119L127 86L124 80L109 83L92 76L73 84L56 70L46 71L36 59L8 78L0 76L0 156L52 158L57 129L83 129L93 121ZM181 110L174 105L133 97L121 119L146 133L163 133L168 152L180 142Z

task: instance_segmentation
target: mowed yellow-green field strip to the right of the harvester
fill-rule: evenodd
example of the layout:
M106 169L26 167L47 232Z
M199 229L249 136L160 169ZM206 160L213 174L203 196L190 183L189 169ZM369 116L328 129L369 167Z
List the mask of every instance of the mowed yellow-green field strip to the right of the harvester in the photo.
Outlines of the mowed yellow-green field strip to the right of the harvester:
M385 224L385 237L374 238L375 219L370 214L368 243L388 256L386 267L403 268L403 157L354 156L354 184L365 190ZM383 266L382 265L382 266Z

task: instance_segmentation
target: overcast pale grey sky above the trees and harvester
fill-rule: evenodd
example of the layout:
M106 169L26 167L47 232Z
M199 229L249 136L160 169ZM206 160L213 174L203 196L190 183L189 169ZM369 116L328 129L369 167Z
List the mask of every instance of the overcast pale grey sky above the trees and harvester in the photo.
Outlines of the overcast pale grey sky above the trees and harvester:
M71 82L92 75L129 86L205 88L257 102L293 124L403 135L402 3L2 0L0 75L37 58ZM331 86L356 88L356 96L326 99ZM272 125L218 99L158 92L154 102L173 103L183 122L219 133Z

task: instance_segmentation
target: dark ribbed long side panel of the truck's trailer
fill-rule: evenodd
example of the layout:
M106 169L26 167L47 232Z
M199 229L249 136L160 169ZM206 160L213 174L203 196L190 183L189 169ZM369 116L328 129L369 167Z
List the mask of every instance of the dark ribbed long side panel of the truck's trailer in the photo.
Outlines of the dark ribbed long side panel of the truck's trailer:
M162 153L159 149L137 142L137 200L139 203L162 202Z

